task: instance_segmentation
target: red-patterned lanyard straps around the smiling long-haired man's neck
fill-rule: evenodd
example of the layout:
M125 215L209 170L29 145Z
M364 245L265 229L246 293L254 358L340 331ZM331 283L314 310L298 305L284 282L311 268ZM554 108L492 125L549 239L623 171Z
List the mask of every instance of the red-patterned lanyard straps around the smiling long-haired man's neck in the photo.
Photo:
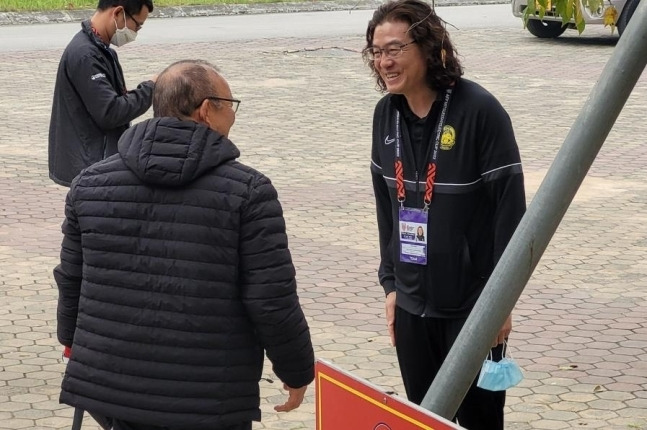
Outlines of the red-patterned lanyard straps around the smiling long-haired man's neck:
M431 197L433 195L434 182L436 180L436 164L438 161L438 148L440 147L440 139L443 134L443 127L447 117L447 110L449 109L449 100L452 96L452 89L449 88L445 91L445 99L443 100L443 109L438 118L436 125L436 136L434 139L434 149L431 154L431 161L427 163L427 180L425 181L425 210L429 209L431 204ZM395 187L398 194L398 202L400 206L404 205L406 199L406 191L404 188L404 168L402 166L402 151L401 151L402 133L400 131L400 111L396 111L395 116ZM428 159L427 156L425 159ZM416 181L418 178L416 178Z

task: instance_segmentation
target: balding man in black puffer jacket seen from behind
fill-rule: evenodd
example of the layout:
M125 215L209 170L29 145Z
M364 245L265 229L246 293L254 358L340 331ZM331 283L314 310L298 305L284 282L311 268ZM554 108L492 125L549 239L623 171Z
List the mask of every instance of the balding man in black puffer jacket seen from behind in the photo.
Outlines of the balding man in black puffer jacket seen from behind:
M298 407L314 378L270 180L236 161L239 101L215 66L175 63L155 118L82 171L66 201L61 402L117 429L251 429L264 352Z

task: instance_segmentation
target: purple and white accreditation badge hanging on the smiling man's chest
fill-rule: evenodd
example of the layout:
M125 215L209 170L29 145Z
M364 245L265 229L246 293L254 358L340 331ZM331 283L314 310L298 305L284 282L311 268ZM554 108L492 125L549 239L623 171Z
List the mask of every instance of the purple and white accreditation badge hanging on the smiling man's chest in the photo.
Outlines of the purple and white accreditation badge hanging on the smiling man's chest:
M400 207L400 261L427 264L427 220L424 209Z

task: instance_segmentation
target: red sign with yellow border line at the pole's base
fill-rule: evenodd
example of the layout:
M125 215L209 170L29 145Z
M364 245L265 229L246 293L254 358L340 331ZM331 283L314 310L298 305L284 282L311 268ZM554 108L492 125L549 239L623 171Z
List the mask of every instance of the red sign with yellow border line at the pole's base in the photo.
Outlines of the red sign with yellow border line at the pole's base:
M454 430L462 427L317 360L317 430Z

